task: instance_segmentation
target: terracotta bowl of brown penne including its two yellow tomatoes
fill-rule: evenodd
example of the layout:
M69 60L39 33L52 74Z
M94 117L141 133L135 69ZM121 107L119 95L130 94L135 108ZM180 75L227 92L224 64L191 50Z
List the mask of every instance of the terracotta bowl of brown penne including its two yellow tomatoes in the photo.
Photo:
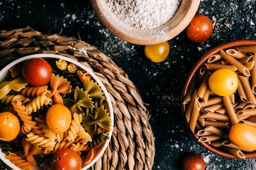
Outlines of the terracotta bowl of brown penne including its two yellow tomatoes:
M236 40L205 53L187 76L181 98L185 124L202 146L222 157L256 157L255 64L256 41Z

